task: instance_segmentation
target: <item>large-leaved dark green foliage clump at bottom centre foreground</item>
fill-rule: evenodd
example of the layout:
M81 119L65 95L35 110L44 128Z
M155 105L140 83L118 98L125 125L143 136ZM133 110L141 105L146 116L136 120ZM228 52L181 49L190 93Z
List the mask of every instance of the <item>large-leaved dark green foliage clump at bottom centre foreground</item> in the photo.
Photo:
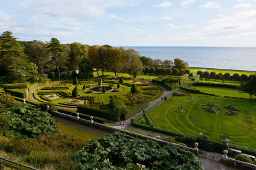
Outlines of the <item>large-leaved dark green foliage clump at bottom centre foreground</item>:
M203 169L191 152L118 132L87 143L74 159L79 169L134 169L136 164L145 169Z

